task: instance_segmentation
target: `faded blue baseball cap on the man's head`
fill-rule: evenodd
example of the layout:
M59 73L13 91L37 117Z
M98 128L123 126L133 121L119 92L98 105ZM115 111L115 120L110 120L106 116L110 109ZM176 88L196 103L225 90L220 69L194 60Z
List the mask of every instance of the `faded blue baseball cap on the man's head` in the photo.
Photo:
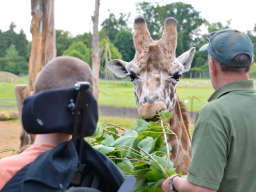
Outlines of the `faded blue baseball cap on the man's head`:
M211 56L231 67L248 67L253 59L253 44L249 36L236 29L223 29L207 35L208 44L203 45L199 51L207 50ZM236 63L233 60L238 54L248 54L250 61Z

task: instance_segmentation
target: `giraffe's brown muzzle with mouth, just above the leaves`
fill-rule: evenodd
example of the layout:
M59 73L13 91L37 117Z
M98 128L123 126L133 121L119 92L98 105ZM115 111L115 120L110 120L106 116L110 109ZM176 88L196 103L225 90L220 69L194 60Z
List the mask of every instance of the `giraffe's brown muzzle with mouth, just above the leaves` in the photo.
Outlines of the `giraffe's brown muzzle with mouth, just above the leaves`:
M150 121L157 120L157 111L164 111L166 109L166 104L162 101L157 102L157 104L145 104L143 106L138 106L139 115Z

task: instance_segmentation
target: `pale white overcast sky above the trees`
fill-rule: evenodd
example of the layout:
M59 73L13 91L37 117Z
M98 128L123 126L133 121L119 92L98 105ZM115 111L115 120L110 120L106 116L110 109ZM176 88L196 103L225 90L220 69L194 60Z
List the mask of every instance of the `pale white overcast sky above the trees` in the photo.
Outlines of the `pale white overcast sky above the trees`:
M175 3L175 0L144 0L147 2L159 2L160 5ZM227 24L231 20L230 28L239 31L253 30L256 24L256 1L255 0L180 0L182 3L191 4L196 11L200 12L202 19L212 22ZM129 22L132 26L136 12L136 3L143 0L100 0L99 29L100 23L107 19L109 11L119 18L119 13L131 12ZM234 3L236 2L236 3ZM237 3L239 2L239 3ZM54 3L55 28L69 31L72 36L92 32L91 16L94 14L94 0L55 0ZM173 17L173 15L170 15ZM32 40L30 33L31 24L31 1L29 0L0 0L0 29L7 31L11 22L15 22L17 28L26 33L27 39ZM145 18L147 21L147 18ZM203 29L204 30L204 29ZM203 31L204 32L204 31ZM202 32L202 33L203 33ZM205 32L206 33L206 32Z

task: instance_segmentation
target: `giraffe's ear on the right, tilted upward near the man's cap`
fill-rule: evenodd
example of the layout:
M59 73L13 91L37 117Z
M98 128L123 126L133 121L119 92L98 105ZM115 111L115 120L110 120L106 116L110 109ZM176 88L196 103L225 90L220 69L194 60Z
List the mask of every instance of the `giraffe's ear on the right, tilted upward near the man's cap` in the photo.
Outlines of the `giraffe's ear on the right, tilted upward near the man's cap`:
M184 52L183 54L181 54L179 56L179 58L176 59L184 67L182 72L188 72L189 71L189 69L191 67L193 57L195 55L195 52L196 52L196 47L192 47L191 49L189 49L189 51Z

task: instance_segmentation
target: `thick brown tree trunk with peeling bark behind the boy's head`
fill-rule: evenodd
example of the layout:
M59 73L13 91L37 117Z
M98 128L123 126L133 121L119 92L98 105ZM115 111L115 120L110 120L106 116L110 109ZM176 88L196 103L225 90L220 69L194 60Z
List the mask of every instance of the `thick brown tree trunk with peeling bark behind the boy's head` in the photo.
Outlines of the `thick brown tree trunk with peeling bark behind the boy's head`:
M31 15L32 47L29 57L28 85L23 88L15 87L20 122L22 122L22 101L33 91L38 72L56 56L54 0L31 0ZM33 137L26 133L23 127L20 141L20 147L33 143Z

